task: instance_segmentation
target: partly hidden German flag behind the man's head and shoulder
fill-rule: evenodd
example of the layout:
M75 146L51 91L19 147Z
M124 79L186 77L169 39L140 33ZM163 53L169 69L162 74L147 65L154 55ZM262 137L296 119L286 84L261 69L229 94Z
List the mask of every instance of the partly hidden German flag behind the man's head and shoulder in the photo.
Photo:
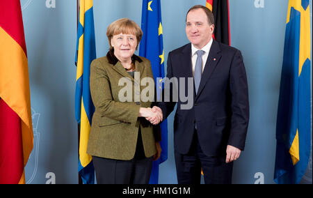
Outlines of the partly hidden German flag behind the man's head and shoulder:
M206 4L215 20L213 38L230 45L230 3L228 0L207 0Z

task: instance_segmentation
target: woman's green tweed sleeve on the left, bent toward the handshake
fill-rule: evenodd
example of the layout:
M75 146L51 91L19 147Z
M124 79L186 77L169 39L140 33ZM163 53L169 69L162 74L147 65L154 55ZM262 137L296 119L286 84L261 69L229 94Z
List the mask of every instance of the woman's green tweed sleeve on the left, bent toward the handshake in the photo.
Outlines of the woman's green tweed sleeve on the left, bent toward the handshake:
M97 112L101 116L136 125L140 107L132 102L113 100L105 64L109 63L95 59L90 66L90 93Z

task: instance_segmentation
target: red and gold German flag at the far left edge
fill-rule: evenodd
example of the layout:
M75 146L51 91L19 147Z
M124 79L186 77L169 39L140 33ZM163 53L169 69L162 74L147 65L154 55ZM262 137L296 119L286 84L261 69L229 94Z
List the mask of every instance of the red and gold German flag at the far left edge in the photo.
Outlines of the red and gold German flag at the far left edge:
M0 184L25 183L33 149L29 70L19 0L0 1Z

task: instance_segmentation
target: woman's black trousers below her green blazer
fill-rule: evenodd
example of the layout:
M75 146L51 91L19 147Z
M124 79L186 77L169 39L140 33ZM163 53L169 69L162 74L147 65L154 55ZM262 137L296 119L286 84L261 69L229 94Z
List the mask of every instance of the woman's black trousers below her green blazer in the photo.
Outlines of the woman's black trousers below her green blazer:
M113 160L93 156L97 184L149 184L153 157L145 158L141 131L132 160Z

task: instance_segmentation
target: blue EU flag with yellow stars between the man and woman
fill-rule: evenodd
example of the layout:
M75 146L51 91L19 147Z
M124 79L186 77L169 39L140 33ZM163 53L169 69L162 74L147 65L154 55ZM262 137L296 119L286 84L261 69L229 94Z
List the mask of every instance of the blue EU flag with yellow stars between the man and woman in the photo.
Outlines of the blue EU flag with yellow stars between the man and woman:
M162 91L162 79L165 77L160 0L143 0L141 29L143 30L143 38L141 39L139 56L151 61L154 82L157 86L157 97L159 98ZM159 183L159 164L168 159L168 122L166 120L161 123L161 132L162 152L159 160L153 162L151 184Z

